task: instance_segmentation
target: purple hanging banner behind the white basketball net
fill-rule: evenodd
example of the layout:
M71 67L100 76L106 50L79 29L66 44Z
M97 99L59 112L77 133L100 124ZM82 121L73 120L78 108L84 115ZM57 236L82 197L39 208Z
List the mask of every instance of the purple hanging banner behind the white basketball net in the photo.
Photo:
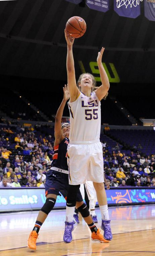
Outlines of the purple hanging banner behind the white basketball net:
M120 3L121 1L123 2L123 0L120 0ZM119 16L135 19L141 14L140 5L137 5L136 7L132 7L132 8L130 6L126 8L125 5L122 5L121 7L117 8L116 0L113 2L114 2L114 11Z

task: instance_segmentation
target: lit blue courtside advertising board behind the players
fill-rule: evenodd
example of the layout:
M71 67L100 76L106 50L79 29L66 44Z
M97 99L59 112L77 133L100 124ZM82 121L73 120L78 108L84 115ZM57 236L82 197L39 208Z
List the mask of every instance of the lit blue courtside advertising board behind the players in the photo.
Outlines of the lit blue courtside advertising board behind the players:
M155 189L119 189L106 190L108 204L155 203ZM0 212L36 210L45 203L44 189L0 189ZM58 196L54 208L63 208L66 200Z

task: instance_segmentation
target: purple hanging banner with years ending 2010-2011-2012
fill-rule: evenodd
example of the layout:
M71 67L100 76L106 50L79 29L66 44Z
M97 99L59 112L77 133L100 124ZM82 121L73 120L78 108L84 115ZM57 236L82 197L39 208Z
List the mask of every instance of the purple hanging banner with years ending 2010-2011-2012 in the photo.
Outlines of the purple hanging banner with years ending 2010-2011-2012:
M109 0L86 0L90 9L106 12L109 10Z

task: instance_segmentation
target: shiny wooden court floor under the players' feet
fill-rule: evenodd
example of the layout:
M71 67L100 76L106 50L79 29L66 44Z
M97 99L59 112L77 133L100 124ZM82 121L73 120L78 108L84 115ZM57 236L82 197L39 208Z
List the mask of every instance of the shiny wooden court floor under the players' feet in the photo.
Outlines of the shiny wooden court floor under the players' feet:
M100 227L99 209L96 214ZM80 224L74 225L73 241L63 243L65 210L53 210L40 229L37 250L33 251L27 248L27 239L37 215L38 211L0 214L0 255L155 256L155 205L109 208L113 240L108 244L91 241L91 231L81 216Z

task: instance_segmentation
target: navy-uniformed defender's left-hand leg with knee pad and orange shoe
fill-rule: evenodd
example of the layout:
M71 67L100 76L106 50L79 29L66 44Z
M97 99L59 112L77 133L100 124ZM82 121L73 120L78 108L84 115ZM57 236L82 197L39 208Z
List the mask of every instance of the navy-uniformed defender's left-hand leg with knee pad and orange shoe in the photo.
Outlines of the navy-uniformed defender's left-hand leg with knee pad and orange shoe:
M34 228L30 233L30 236L28 239L28 248L36 250L36 241L37 241L37 238L39 235L38 234L39 230L40 230L42 224L44 223L44 221L46 220L48 214L53 209L55 202L56 202L56 198L57 198L57 195L54 195L54 194L48 194L46 196L46 202L43 205L43 207L41 208L41 210L39 211Z

